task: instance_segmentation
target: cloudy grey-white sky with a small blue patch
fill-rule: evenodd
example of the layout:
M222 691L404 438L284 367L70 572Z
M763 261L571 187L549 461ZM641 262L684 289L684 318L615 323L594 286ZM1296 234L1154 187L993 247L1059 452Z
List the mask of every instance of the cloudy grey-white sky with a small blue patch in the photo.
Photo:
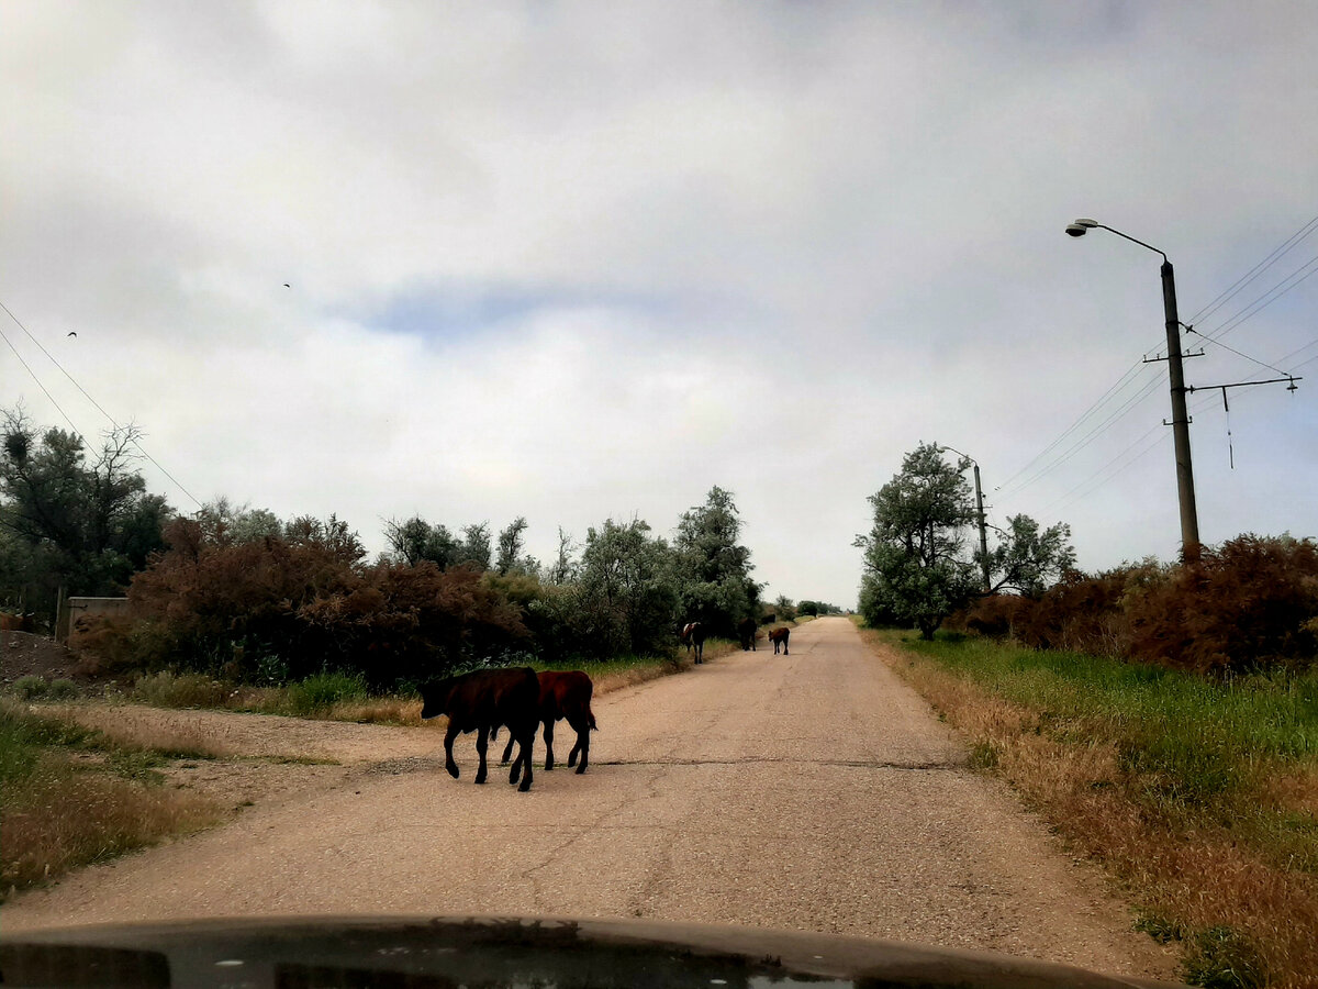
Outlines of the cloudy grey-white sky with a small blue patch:
M717 484L766 596L854 605L866 497L937 442L991 522L1170 559L1161 258L1086 216L1176 265L1190 384L1305 376L1190 397L1203 539L1314 535L1315 38L1298 0L0 0L0 406L95 444L84 390L177 509L372 550L526 516L548 559Z

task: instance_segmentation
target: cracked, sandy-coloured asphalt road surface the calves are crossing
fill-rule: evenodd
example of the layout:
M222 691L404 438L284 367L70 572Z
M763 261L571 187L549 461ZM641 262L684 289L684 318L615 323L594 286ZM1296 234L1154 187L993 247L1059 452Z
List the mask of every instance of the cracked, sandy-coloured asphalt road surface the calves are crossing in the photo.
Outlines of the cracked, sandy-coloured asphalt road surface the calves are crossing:
M1098 873L966 769L963 741L847 620L799 626L791 649L735 653L596 698L589 770L546 773L538 740L529 794L496 765L489 783L472 783L474 736L456 746L453 781L436 727L264 719L287 725L299 749L320 737L315 752L347 765L215 831L20 894L0 907L0 924L643 916L1172 976L1172 956L1131 930ZM244 717L173 713L214 719L215 731ZM565 758L565 723L555 744Z

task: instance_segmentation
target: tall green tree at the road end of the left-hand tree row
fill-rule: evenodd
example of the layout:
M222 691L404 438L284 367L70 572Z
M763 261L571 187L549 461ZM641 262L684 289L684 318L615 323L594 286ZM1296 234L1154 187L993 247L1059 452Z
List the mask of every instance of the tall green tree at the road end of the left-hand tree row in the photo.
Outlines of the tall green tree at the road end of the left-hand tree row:
M704 505L683 513L673 539L677 621L701 621L713 634L733 637L737 622L759 614L762 585L750 578L750 550L737 542L741 525L731 493L717 485Z

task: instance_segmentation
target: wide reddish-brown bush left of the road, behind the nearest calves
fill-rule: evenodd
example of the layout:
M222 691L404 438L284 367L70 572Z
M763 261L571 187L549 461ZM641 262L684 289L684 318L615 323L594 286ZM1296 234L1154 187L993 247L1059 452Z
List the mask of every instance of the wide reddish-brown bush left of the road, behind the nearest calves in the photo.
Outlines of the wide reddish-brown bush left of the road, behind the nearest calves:
M91 662L241 682L331 671L382 690L525 645L519 608L476 570L362 566L337 530L215 543L179 521L169 535L133 579L130 620L98 629Z

